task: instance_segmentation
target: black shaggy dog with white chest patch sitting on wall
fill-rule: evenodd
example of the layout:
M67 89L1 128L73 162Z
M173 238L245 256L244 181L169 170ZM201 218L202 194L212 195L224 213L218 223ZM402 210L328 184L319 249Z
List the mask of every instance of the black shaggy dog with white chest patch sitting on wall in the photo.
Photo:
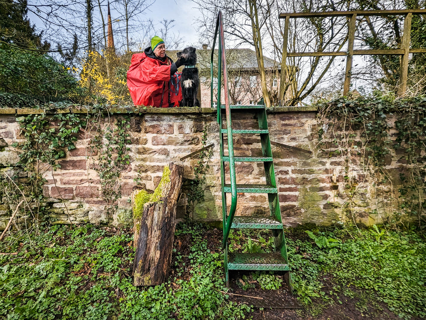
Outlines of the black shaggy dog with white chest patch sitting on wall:
M198 85L200 83L197 63L197 54L194 47L184 48L177 53L185 65L181 75L182 102L181 107L199 107L200 102L197 99Z

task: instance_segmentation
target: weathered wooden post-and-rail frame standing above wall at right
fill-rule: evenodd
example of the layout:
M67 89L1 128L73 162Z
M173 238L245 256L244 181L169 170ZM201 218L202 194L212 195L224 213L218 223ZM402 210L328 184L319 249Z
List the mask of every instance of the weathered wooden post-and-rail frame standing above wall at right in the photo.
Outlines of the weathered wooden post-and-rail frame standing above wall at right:
M325 11L325 12L291 12L279 14L279 19L285 19L284 41L282 46L281 70L287 70L287 57L319 57L319 56L346 56L345 82L343 95L349 93L351 85L352 60L354 55L400 55L400 79L398 94L403 96L407 89L408 60L410 53L426 53L426 49L410 49L410 33L412 15L426 14L426 9L414 10L354 10L354 11ZM369 49L354 50L355 30L358 16L395 16L404 15L404 28L400 49ZM317 51L317 52L288 52L288 26L290 19L314 17L348 17L348 51ZM286 72L281 72L279 99L284 103L284 82Z

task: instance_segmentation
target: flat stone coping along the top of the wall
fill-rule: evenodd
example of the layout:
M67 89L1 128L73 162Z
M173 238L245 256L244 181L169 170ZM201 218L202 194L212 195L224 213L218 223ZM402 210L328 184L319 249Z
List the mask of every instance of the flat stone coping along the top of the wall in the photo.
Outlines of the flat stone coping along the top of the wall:
M267 108L267 113L285 113L285 112L312 112L317 111L317 106L297 106L297 107L271 107ZM72 108L58 108L58 109L33 109L33 108L0 108L0 114L40 114L45 112L48 114L56 113L95 113L96 110L86 107L72 107ZM109 108L108 110L103 110L105 113L168 113L168 114L197 114L197 113L216 113L216 108Z

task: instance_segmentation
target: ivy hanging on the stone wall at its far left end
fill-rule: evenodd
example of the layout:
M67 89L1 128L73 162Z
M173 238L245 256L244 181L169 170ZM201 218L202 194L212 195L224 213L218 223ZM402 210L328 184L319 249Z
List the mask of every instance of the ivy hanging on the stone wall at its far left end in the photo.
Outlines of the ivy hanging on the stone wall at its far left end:
M75 133L86 122L72 113L48 115L46 111L21 116L17 121L24 141L15 142L12 147L21 151L17 165L25 174L13 170L12 176L2 176L0 183L8 204L17 204L17 199L25 198L21 211L29 211L37 217L44 210L44 206L40 207L46 182L43 173L60 168L58 160L65 157L67 151L75 149Z

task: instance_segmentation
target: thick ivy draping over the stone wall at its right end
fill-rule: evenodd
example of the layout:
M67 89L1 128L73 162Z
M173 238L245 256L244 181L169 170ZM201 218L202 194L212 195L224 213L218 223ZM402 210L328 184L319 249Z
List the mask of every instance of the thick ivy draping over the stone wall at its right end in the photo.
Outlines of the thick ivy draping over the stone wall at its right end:
M389 223L401 216L424 221L426 209L426 96L397 98L374 92L371 96L342 97L318 103L318 140L329 156L345 159L346 207L359 192L351 178L351 162L360 159L375 186L392 185L395 173L387 165L396 158L399 166L398 208ZM392 185L393 186L393 185ZM410 220L410 219L408 219Z

